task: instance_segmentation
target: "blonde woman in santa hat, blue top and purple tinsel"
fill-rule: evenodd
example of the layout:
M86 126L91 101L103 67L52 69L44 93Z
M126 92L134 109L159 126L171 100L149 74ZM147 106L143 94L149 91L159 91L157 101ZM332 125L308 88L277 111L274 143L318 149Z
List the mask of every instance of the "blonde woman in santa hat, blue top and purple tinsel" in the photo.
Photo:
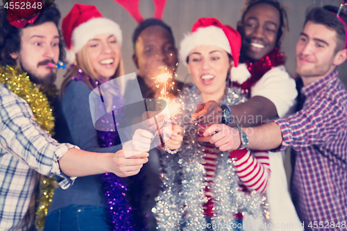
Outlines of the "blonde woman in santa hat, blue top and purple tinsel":
M70 60L74 63L61 87L62 109L72 143L87 151L115 153L121 149L119 134L94 128L89 96L98 85L124 75L121 29L112 20L104 18L95 6L75 4L62 20L62 32ZM122 91L122 87L117 89L116 85L108 89L107 93L114 99L111 103L122 103ZM112 105L106 103L105 106ZM153 136L151 132L143 131L147 136ZM134 170L130 168L128 176L139 171ZM106 173L77 178L69 189L56 189L45 230L131 230L134 223L126 200L127 185L121 177L126 176ZM112 186L108 180L112 180ZM112 201L107 197L110 194L115 195Z

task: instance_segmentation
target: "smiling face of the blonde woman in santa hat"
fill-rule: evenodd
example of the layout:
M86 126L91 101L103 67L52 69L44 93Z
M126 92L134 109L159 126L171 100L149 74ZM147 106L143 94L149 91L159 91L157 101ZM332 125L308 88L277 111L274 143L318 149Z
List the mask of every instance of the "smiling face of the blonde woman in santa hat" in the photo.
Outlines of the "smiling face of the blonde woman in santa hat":
M115 35L96 35L87 42L88 58L98 78L109 80L119 66L121 49Z

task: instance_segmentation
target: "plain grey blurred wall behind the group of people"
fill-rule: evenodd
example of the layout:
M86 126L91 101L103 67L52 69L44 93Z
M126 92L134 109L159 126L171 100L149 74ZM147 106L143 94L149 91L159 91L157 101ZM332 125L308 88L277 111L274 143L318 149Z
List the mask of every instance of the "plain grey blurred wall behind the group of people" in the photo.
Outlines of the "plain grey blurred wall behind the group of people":
M71 10L74 3L83 3L95 5L104 17L114 20L121 26L123 32L123 44L121 51L124 58L126 74L136 72L132 60L133 44L131 37L137 26L137 22L128 12L113 0L56 0L62 17L65 17ZM288 8L289 32L285 35L282 42L282 51L287 55L286 67L289 73L295 74L295 47L298 36L303 28L305 12L307 8L323 5L339 6L340 0L280 0ZM153 17L154 3L152 0L141 0L139 9L144 19ZM216 17L223 24L229 24L236 28L237 21L241 18L244 9L244 0L167 0L164 10L163 20L171 26L176 40L176 46L179 48L180 40L185 33L188 33L194 22L199 17ZM58 71L56 81L57 87L60 87L65 70ZM347 62L339 67L339 77L347 86ZM187 68L184 65L178 66L178 79L191 82L188 76Z

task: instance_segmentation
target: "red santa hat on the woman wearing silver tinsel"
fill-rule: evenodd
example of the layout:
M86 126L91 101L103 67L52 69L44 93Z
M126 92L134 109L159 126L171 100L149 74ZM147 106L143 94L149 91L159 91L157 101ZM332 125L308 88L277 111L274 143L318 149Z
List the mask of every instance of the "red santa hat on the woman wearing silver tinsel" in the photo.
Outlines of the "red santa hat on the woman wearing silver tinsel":
M198 19L192 27L192 32L185 35L180 42L180 60L187 65L189 52L201 45L219 46L232 55L235 67L239 65L241 35L231 26L221 24L218 19Z

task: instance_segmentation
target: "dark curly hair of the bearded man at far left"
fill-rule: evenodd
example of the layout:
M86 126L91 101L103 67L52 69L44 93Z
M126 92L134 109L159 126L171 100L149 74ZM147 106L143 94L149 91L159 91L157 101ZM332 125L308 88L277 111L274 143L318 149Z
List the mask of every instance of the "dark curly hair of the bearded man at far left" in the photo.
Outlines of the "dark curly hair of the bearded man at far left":
M24 28L31 26L38 26L46 22L53 22L58 28L60 20L60 12L56 7L56 4L52 4L42 12L35 20L33 24L26 24ZM58 30L59 31L59 30ZM21 48L21 33L22 29L12 26L7 19L6 9L3 6L0 7L0 65L15 66L16 60L11 57L11 53L20 51ZM59 59L65 60L64 40L62 40L62 34L59 31Z

